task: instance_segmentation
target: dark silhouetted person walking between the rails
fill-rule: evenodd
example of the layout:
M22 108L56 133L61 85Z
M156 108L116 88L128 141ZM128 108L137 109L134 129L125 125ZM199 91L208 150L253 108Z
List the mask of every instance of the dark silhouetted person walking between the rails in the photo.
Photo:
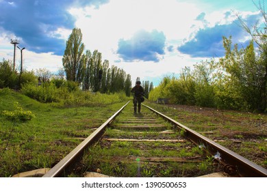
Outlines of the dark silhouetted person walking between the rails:
M136 86L131 89L131 93L134 93L134 95L133 95L134 113L136 114L137 105L138 105L138 113L140 113L141 112L141 102L144 101L144 98L142 97L144 94L144 88L141 86L140 81L136 81Z

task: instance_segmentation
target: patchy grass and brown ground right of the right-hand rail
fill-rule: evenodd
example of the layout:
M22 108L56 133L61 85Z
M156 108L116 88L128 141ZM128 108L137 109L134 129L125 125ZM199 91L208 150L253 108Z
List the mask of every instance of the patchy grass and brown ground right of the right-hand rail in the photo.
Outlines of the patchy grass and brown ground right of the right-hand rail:
M147 102L157 111L179 121L203 136L218 141L256 164L266 165L267 115L251 112L218 110L199 106L155 104ZM183 132L180 132L181 136ZM193 148L196 153L203 151ZM209 159L209 161L212 159ZM202 167L205 167L205 164Z

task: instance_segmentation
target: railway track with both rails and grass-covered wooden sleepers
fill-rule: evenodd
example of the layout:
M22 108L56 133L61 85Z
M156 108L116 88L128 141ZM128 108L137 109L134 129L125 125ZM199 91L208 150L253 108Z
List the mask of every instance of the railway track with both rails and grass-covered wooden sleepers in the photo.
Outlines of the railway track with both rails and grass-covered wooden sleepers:
M225 171L267 177L267 170L143 104L127 102L43 177L196 177Z

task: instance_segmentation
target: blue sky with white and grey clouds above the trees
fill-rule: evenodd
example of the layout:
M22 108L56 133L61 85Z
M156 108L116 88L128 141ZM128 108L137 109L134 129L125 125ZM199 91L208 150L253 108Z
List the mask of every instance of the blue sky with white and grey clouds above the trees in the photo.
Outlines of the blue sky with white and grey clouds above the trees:
M223 36L248 45L236 14L249 27L262 22L251 0L0 0L0 60L13 61L10 39L16 38L27 70L57 72L78 27L86 50L99 50L133 83L139 76L157 85L185 66L223 57ZM17 49L17 67L20 54Z

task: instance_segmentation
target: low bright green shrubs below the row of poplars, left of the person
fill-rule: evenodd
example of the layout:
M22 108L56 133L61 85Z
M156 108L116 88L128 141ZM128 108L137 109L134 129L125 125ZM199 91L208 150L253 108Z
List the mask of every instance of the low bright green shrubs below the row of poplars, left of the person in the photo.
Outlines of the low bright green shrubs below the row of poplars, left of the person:
M110 94L81 91L76 83L70 81L64 81L60 87L57 87L58 85L58 80L42 83L40 86L27 83L23 85L21 91L39 102L51 102L53 106L106 105L129 99L123 91Z

